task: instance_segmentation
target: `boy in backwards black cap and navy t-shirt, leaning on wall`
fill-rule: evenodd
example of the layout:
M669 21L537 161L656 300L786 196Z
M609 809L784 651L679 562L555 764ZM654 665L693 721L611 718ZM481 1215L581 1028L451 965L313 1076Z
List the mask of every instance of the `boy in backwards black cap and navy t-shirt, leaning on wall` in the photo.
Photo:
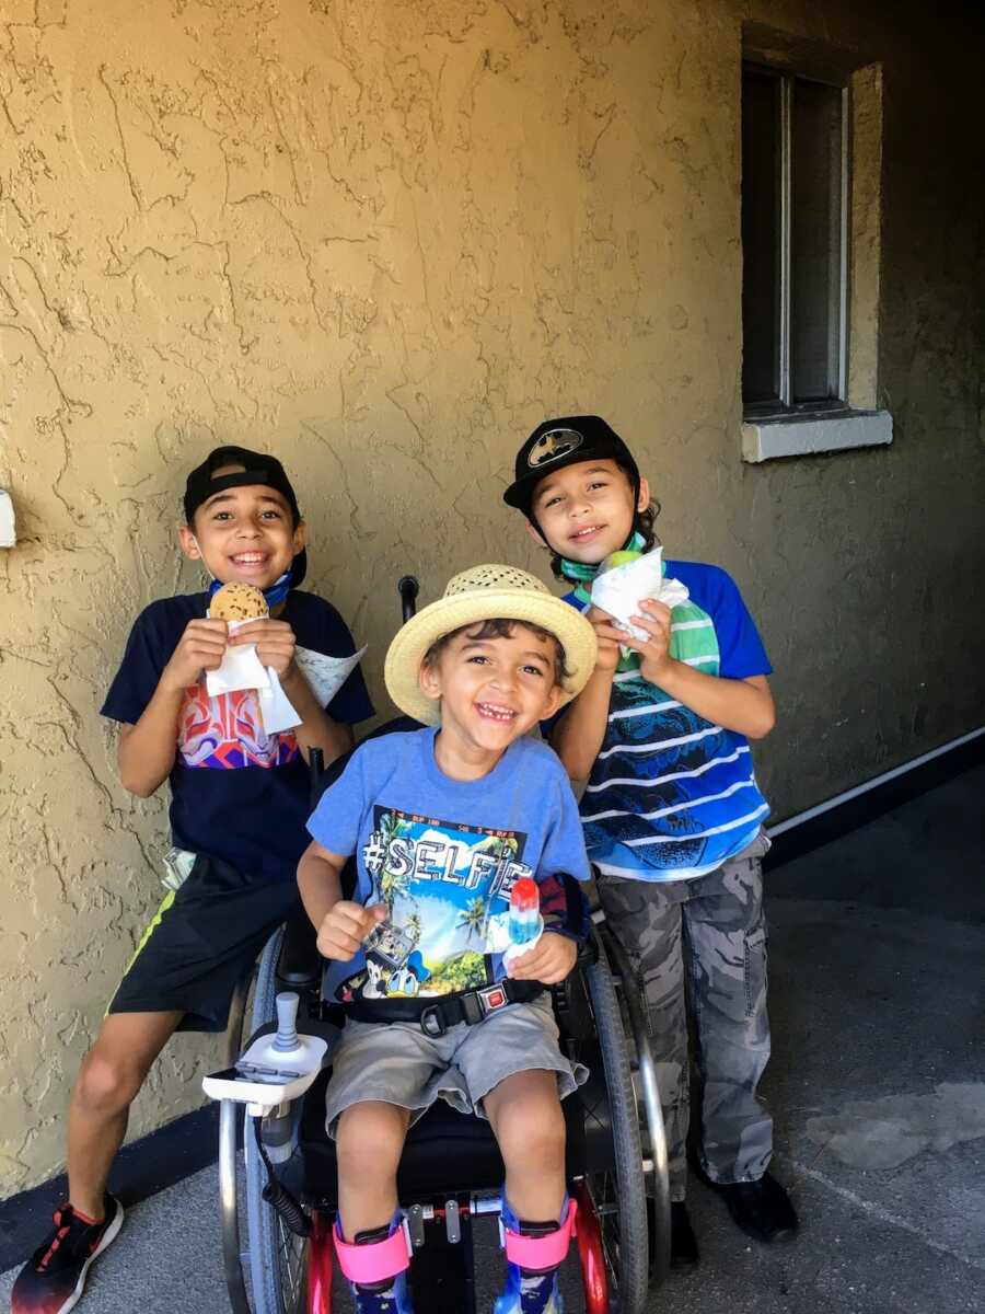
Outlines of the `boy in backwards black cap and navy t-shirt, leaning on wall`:
M184 510L181 551L211 589L144 608L102 715L121 723L125 788L148 798L169 778L173 841L190 872L141 940L83 1062L68 1110L68 1201L17 1277L13 1314L64 1314L81 1297L123 1219L105 1188L130 1102L175 1030L225 1030L236 983L297 907L305 754L320 748L334 761L352 748L352 724L373 714L359 669L323 708L294 661L298 644L332 657L355 644L330 603L297 587L307 532L281 463L217 448L188 476ZM232 581L259 587L271 619L230 635L208 608ZM205 673L227 644L248 643L301 716L293 731L264 731L256 690L209 695Z

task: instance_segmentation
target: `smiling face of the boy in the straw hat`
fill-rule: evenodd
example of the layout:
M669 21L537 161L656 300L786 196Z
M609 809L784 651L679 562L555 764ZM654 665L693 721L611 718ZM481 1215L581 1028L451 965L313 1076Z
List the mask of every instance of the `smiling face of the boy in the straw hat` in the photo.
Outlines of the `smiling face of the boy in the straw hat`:
M557 711L557 640L519 620L508 636L479 639L482 624L456 635L422 666L420 687L441 700L441 737L466 753L498 757Z

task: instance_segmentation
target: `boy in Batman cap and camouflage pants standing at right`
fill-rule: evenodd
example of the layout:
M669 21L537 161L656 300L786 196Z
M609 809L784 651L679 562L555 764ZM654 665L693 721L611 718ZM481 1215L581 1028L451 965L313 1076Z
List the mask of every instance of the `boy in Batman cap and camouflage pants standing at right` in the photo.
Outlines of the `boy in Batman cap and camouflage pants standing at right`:
M797 1218L768 1173L772 1118L756 1097L770 1058L762 825L750 738L774 725L770 662L738 589L717 566L665 561L688 589L671 611L646 599L642 640L592 606L613 552L654 545L657 507L632 452L598 415L540 424L516 456L504 501L573 583L599 644L595 671L550 738L582 799L588 857L613 932L646 989L667 1123L671 1261L697 1261L684 1188L688 1133L688 966L703 1079L700 1162L735 1222L756 1240ZM625 656L621 656L621 652Z

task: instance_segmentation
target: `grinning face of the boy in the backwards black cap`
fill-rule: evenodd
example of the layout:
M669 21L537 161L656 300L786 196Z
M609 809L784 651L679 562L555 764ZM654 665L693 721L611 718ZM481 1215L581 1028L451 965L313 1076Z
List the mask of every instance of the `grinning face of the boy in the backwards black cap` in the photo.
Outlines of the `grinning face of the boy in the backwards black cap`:
M215 474L232 474L223 466ZM204 561L221 583L252 583L269 589L290 569L307 540L305 522L292 523L286 498L263 484L223 489L194 512L194 524L179 531L181 548Z

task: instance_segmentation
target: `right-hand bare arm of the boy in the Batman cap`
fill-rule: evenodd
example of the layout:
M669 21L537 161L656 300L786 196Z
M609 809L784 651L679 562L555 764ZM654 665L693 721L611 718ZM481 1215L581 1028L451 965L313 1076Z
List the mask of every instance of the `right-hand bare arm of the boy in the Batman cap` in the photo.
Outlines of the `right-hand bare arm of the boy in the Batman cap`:
M641 602L642 615L632 616L634 625L650 636L640 641L625 637L626 648L640 653L640 674L658 685L684 707L697 712L713 725L735 731L746 738L764 738L776 723L774 696L766 675L728 679L707 675L670 656L670 607L662 602ZM604 729L604 727L603 727Z

